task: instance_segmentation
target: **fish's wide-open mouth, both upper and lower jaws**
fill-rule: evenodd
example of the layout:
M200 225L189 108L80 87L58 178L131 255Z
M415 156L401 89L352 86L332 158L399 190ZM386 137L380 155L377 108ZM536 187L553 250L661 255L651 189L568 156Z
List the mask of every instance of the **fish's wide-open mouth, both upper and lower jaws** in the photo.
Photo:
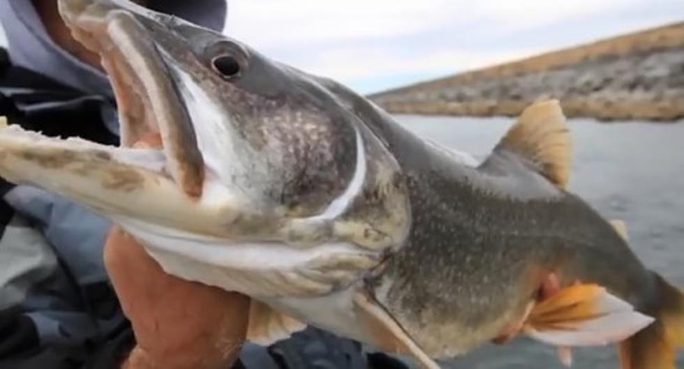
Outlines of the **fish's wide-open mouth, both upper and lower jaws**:
M121 147L48 139L11 127L1 139L3 176L63 193L101 213L135 213L188 232L230 234L225 225L237 216L237 201L218 186L202 196L215 183L205 181L185 103L137 14L163 15L128 1L60 1L59 7L75 38L101 55L117 98ZM131 147L149 133L161 136L161 147Z

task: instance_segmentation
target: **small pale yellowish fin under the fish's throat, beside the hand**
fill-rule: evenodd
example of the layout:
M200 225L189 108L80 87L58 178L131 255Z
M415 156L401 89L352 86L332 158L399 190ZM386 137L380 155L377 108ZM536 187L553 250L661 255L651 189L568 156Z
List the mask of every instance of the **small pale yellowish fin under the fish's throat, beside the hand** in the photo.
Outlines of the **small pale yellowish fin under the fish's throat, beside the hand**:
M247 340L267 346L278 340L289 338L292 333L302 331L305 328L306 324L299 322L299 320L252 299L249 306Z

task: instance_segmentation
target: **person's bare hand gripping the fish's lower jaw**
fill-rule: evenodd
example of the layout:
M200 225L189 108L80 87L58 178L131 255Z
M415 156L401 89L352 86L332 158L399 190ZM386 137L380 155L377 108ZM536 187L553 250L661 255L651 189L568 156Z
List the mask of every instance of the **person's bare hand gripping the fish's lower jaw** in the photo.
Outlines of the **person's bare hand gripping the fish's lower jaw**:
M145 137L144 144L161 139ZM246 336L248 297L170 276L119 227L104 257L137 341L123 369L230 368Z

